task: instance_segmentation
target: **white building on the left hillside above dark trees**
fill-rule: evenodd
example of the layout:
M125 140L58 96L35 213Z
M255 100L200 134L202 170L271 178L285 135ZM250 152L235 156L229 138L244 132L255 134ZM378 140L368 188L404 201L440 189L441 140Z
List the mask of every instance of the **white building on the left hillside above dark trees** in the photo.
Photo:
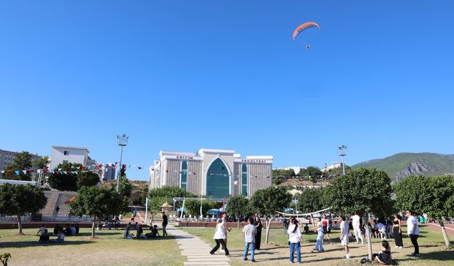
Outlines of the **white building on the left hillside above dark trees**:
M87 166L87 162L92 162L88 156L89 150L87 148L66 147L66 146L52 146L50 153L50 170L53 170L61 163L79 163L82 166ZM96 161L94 162L96 163Z

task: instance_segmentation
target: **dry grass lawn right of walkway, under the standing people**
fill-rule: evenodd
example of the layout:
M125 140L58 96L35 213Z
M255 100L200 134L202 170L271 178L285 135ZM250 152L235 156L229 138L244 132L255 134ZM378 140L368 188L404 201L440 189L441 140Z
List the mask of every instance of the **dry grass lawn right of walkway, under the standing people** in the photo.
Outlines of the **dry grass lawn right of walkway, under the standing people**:
M403 228L406 232L406 228ZM182 228L182 230L199 236L207 243L214 246L214 228ZM250 265L250 261L243 261L244 240L242 228L233 228L228 233L228 250L231 252L231 265ZM404 248L394 248L394 239L389 239L392 246L392 256L399 262L399 265L454 265L454 251L443 247L444 241L441 232L433 231L427 226L420 226L420 237L418 239L420 257L412 257L409 254L414 251L409 238L404 236ZM288 265L289 248L287 244L287 234L283 228L270 229L270 243L265 243L265 233L262 231L261 249L255 253L255 260L259 265ZM355 244L355 238L350 238L350 260L343 259L345 252L339 240L340 231L333 231L331 238L333 245L328 245L325 238L323 253L311 253L314 248L316 234L303 235L301 254L306 265L359 265L362 257L367 257L367 245ZM352 243L353 241L353 243ZM381 239L372 238L372 252L380 250ZM454 243L454 242L451 242ZM250 259L250 255L248 256ZM295 260L296 261L296 260ZM377 264L378 265L378 264Z

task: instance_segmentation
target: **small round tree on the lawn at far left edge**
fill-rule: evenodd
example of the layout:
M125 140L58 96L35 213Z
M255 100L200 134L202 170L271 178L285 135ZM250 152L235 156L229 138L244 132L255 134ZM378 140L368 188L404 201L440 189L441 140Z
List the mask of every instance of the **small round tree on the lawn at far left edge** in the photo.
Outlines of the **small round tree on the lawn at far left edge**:
M26 213L36 214L43 209L48 199L43 189L27 185L0 185L0 214L16 215L19 235L22 235L21 216Z

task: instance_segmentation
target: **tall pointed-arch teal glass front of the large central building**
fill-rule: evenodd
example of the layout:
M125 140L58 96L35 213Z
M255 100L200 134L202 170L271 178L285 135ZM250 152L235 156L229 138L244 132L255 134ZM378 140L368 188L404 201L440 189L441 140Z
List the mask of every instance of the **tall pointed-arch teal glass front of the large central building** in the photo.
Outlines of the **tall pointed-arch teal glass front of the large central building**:
M230 177L227 166L217 158L206 171L206 195L215 198L228 197Z

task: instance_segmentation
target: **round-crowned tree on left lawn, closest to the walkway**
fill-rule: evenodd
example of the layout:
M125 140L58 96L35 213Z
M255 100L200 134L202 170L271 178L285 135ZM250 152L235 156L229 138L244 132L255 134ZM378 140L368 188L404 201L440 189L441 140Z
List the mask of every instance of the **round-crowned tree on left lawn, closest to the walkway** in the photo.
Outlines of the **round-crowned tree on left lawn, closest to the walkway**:
M96 217L116 215L121 212L123 198L114 190L102 187L82 187L77 192L76 199L70 202L72 212L78 216L88 215L93 218L92 237L95 236L94 226Z

